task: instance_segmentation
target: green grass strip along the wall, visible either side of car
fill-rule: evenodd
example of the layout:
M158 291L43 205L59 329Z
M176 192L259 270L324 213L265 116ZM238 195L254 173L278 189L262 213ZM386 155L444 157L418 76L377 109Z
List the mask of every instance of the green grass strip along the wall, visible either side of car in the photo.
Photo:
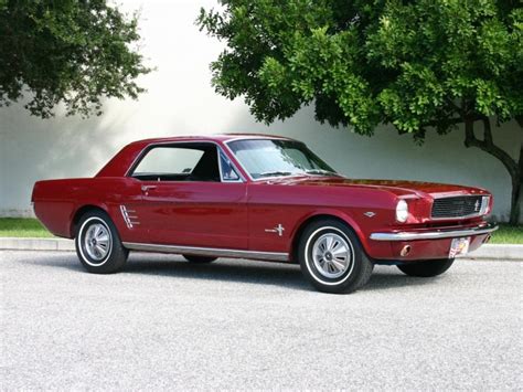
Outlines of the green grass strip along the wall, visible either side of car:
M35 219L1 218L0 236L52 237L47 230ZM492 234L491 244L523 244L523 225L500 224Z

